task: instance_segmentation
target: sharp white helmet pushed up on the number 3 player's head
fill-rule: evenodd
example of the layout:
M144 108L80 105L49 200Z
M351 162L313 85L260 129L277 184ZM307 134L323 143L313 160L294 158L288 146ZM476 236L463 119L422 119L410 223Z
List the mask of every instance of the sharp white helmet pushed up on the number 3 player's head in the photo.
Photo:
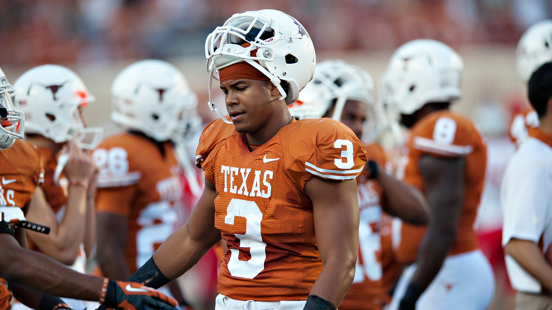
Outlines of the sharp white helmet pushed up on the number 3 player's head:
M229 124L213 102L213 77L219 79L220 69L241 61L249 63L270 79L282 94L280 99L289 105L312 79L316 63L305 28L290 15L272 9L232 15L207 37L205 56L210 73L209 107Z

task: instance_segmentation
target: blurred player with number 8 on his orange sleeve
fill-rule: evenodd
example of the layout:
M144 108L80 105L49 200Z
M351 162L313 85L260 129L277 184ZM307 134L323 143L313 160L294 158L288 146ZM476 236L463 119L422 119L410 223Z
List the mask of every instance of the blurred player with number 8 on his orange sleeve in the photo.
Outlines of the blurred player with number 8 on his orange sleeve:
M432 217L425 233L403 227L410 240L401 240L399 252L415 263L403 272L391 309L482 310L492 298L492 270L473 229L486 147L471 120L449 111L462 71L449 46L414 40L393 54L382 79L385 101L410 128L399 173L424 193Z

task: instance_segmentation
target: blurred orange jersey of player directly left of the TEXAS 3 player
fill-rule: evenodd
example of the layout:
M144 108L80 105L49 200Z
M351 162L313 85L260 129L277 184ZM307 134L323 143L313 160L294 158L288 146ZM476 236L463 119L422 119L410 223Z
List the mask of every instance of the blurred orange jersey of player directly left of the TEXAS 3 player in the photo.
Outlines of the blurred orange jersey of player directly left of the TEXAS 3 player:
M131 272L151 258L171 233L182 197L180 168L170 142L155 142L135 133L104 140L92 153L100 169L98 212L128 217L124 250Z

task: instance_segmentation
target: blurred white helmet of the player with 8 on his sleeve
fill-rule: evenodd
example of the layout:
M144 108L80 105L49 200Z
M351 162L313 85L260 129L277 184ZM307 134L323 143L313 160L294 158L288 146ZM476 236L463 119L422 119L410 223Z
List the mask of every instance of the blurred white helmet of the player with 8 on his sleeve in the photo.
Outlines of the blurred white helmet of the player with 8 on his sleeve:
M448 45L428 39L395 51L381 79L382 102L392 113L412 114L427 103L460 98L463 62Z

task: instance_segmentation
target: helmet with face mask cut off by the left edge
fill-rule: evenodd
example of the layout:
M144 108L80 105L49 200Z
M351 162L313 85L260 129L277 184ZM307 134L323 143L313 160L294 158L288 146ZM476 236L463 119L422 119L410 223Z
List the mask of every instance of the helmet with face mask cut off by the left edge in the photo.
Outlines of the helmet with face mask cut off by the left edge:
M0 68L0 149L13 145L16 139L25 134L25 116L16 110L11 94L14 92L6 75Z

